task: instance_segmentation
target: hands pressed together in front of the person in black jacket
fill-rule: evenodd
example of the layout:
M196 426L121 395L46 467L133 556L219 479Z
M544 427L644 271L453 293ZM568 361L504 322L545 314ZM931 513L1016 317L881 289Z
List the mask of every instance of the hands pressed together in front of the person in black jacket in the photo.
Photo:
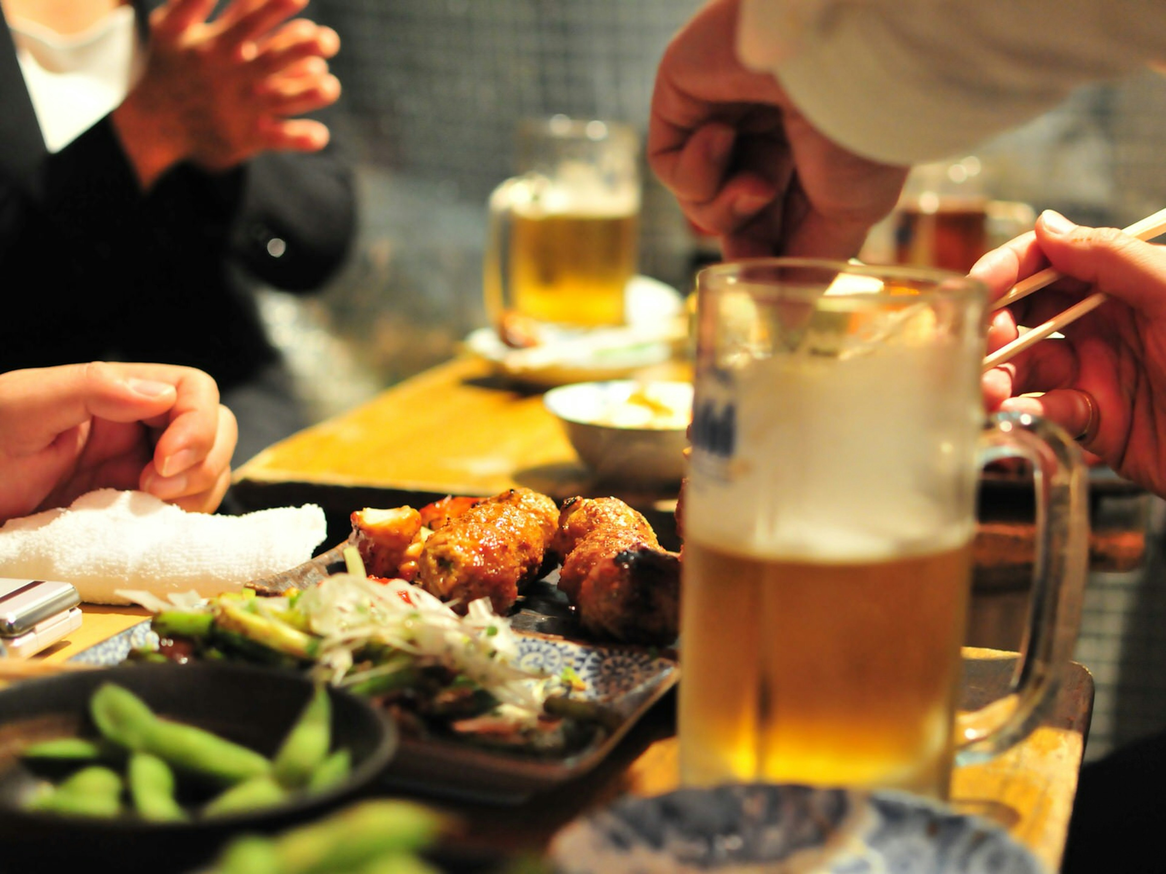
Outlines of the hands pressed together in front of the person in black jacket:
M303 115L335 103L336 31L287 21L307 0L169 0L150 15L141 80L112 113L148 189L174 164L226 170L267 150L316 151L328 127Z

